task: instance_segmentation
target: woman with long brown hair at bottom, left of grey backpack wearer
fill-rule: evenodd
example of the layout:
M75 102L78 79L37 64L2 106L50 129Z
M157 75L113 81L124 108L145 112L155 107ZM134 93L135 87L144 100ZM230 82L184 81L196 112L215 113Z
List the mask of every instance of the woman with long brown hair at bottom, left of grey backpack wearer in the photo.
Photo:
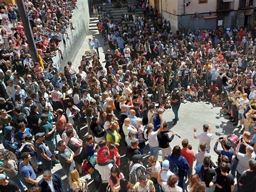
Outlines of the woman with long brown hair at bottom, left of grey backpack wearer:
M120 172L119 168L114 165L110 170L109 185L113 192L118 192L120 187L120 180L124 179L123 173Z

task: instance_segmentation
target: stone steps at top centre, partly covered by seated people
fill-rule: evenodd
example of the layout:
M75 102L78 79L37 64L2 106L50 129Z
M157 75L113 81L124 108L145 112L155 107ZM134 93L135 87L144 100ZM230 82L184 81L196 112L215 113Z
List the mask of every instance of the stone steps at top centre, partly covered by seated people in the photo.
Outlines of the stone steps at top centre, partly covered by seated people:
M133 0L127 0L127 3L130 6L133 6ZM113 22L117 25L118 22L121 20L122 13L128 13L127 7L125 6L124 8L112 8L111 4L106 4L105 10L109 10L110 14L113 16ZM136 11L136 15L143 15L143 10L139 6ZM99 15L101 12L99 12ZM90 23L89 23L89 32L93 33L93 35L98 35L98 27L97 27L97 22L99 22L99 19L94 17L94 13L90 13ZM133 22L122 22L123 24L127 24L127 26L135 27Z

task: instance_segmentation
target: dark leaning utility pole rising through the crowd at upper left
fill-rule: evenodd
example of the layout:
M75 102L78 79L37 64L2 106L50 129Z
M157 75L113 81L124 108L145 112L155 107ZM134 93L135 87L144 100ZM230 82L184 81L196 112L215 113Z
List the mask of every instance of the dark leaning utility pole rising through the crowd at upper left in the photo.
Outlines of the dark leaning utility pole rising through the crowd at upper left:
M24 26L26 39L28 40L29 51L30 51L30 54L31 54L31 58L33 59L34 62L38 62L38 59L37 59L37 54L38 53L37 53L37 50L36 50L36 44L35 44L35 40L33 38L33 33L32 33L32 30L31 30L31 26L30 26L30 23L29 23L29 17L26 14L24 0L16 0L16 4L17 4L18 9L19 9L19 14L21 15L21 20L22 20L22 24Z

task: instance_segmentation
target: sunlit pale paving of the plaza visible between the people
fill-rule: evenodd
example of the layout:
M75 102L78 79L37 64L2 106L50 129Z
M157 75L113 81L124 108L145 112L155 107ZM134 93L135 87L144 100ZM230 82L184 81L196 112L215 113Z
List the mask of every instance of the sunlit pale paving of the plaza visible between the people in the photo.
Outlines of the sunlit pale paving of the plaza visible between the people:
M72 61L73 65L76 69L78 69L78 66L80 65L80 60L82 59L82 56L84 55L86 50L89 50L88 46L88 39L92 38L92 35L88 35L83 45L81 46L79 52L77 53L76 58ZM107 45L103 46L103 40L99 36L96 36L100 42L99 47L99 56L100 56L100 62L105 65L105 54L104 52L107 50ZM205 102L187 102L186 104L181 104L179 109L179 121L176 126L173 127L172 125L172 119L174 118L174 114L172 112L172 109L167 109L164 113L164 120L169 123L169 129L171 129L174 133L178 134L181 138L178 138L178 136L174 136L173 141L170 143L171 147L180 145L181 141L183 139L188 139L189 143L192 145L194 152L197 152L197 147L199 141L193 138L193 127L197 127L198 133L203 132L203 124L208 124L212 127L212 132L214 135L214 139L211 142L211 155L212 160L215 162L217 160L217 154L213 152L213 146L217 138L219 138L221 135L225 134L232 134L233 132L238 132L237 129L234 129L232 122L229 122L225 116L220 114L220 107L213 106L212 104L206 104ZM80 134L80 137L82 138L87 133L87 127L84 127L82 129L82 132ZM169 133L170 136L172 133ZM1 148L4 148L2 145L2 134L1 134ZM60 140L58 135L58 140ZM124 143L120 145L119 149L120 154L122 155L121 159L121 167L123 173L126 173L127 168L127 160L125 157L126 152L126 146L124 146ZM145 153L149 153L149 147L146 146ZM160 154L161 152L159 152ZM144 158L144 161L146 162L147 155ZM159 155L159 161L161 161L161 155ZM68 184L68 179L66 178L66 175L64 174L62 167L60 164L56 164L55 167L52 169L52 173L57 173L60 176L62 176L62 180L64 181L64 186L66 187ZM42 179L42 173L39 174L38 180ZM95 191L95 185L93 184L93 181L91 180L90 175L84 175L82 177L82 180L87 180L89 182L89 189L90 191Z

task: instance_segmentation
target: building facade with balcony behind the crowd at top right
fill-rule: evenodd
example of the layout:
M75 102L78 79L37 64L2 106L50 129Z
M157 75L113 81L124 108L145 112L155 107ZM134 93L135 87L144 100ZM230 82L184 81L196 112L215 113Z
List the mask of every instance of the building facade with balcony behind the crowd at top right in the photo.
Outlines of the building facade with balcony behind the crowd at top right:
M173 32L220 25L253 27L255 4L256 0L150 0L150 5L170 21Z

